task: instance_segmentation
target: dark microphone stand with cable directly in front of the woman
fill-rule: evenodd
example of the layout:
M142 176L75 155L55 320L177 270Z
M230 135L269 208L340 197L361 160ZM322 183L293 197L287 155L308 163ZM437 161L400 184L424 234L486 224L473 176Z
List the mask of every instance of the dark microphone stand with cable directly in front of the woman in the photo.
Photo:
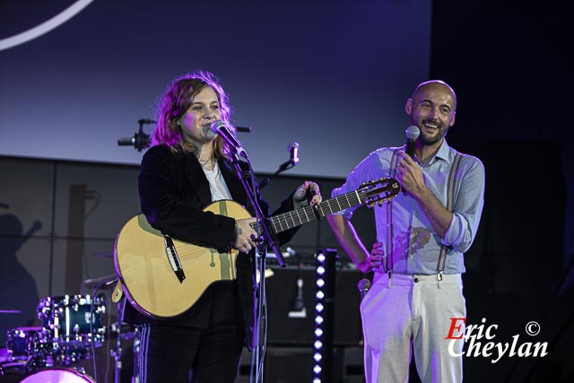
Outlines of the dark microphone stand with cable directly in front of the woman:
M256 222L256 231L263 237L263 241L259 243L255 249L256 251L256 265L258 264L257 270L259 270L259 283L257 286L258 289L258 300L257 300L257 323L255 327L256 331L256 339L257 344L254 348L254 354L251 358L252 364L251 368L255 366L256 369L256 381L263 382L263 361L265 355L265 344L266 344L266 332L267 332L267 323L266 323L266 294L265 294L265 254L266 254L266 247L272 248L274 251L275 257L277 258L277 262L281 267L285 266L285 259L283 258L283 254L279 250L279 244L277 239L274 238L274 235L269 231L268 217L265 216L263 211L261 210L261 206L257 201L257 193L256 193L256 184L255 184L255 171L251 167L251 163L249 162L247 152L242 148L233 148L231 147L232 155L231 155L231 162L235 167L239 180L241 181L241 185L245 189L248 200L253 206L255 210L257 222ZM239 160L239 155L244 158L245 162L248 165L249 170L241 169L241 161ZM250 176L251 185L249 185L248 179L246 176ZM257 262L259 260L260 262ZM251 374L251 379L253 379L253 374Z

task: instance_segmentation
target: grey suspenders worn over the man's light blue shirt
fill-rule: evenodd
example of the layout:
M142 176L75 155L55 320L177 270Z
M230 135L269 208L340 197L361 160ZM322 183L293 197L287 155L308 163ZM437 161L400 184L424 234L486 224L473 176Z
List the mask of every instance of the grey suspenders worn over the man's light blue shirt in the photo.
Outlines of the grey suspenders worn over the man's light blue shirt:
M398 162L398 151L400 149L395 149L393 151L393 156L391 157L389 177L395 178L396 176L396 164ZM448 172L447 179L447 209L452 212L452 208L455 201L455 181L457 180L457 171L460 166L460 160L462 159L462 154L457 152L455 154L455 159L452 162L450 171ZM395 265L393 261L393 201L387 202L387 263L386 271L390 277L393 273L393 266ZM447 262L447 247L442 245L440 247L439 262L437 262L437 279L442 281L442 274L445 271L445 264Z

